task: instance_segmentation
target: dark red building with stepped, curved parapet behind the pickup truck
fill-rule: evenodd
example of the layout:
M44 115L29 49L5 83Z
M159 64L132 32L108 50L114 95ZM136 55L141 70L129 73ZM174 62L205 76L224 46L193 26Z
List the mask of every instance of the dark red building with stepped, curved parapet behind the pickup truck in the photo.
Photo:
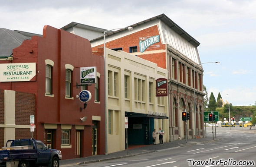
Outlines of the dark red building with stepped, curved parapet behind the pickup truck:
M61 150L63 159L105 154L104 58L92 54L87 39L45 26L43 37L33 36L0 58L1 66L13 65L6 71L12 74L22 69L18 65L35 64L29 81L0 78L1 146L7 137L31 138L34 115L33 138ZM81 85L80 67L96 67L97 84ZM79 100L82 90L92 95L85 109Z

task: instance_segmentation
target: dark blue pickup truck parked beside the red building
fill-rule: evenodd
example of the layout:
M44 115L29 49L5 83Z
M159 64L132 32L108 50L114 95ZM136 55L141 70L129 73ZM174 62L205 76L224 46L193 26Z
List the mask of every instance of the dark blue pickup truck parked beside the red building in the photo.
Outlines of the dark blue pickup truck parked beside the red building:
M0 149L0 167L59 167L61 159L61 151L35 139L8 140Z

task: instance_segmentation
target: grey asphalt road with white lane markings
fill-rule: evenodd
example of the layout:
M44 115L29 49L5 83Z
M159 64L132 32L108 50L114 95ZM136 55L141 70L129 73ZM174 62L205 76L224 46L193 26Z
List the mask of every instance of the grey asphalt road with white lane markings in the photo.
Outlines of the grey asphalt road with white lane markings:
M239 129L240 128L240 129ZM215 129L215 128L214 128ZM79 167L249 167L256 166L256 133L243 131L242 127L216 127L222 140L184 148L168 148L150 154L77 165ZM241 130L241 131L240 131ZM207 127L207 136L212 136ZM248 164L251 163L251 164Z

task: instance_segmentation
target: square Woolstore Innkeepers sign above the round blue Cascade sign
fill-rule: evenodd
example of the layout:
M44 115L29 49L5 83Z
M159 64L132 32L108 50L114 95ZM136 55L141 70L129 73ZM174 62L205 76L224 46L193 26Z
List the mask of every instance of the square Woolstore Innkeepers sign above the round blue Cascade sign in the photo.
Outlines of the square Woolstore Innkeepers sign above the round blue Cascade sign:
M97 82L96 67L80 67L80 83L92 84Z

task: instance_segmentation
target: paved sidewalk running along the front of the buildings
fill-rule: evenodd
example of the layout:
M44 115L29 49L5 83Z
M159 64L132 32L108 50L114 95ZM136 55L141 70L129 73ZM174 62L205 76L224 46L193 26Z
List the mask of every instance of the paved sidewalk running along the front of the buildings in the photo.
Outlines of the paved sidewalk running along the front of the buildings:
M108 161L118 158L126 158L131 156L136 156L140 154L148 154L151 152L159 151L159 150L167 150L167 149L174 149L179 147L187 147L190 145L196 145L201 143L207 143L207 142L214 142L218 141L221 138L212 138L212 136L207 136L207 138L199 138L199 139L187 139L187 142L185 139L182 140L176 140L173 142L166 142L163 145L140 145L139 147L135 148L129 148L128 150L124 151L118 151L115 153L107 154L107 155L93 155L90 157L85 158L75 158L75 159L67 159L67 160L61 160L59 161L60 167L71 167L79 164L89 164L94 163L98 161Z

